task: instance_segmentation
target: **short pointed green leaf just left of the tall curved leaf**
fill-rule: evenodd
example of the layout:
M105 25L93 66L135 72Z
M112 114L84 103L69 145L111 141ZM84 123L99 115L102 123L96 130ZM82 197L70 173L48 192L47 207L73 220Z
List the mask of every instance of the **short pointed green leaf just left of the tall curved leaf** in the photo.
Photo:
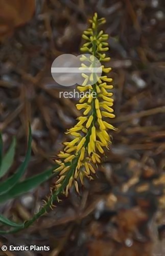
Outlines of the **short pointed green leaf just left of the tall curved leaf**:
M8 169L11 167L13 160L14 160L14 153L15 153L15 146L16 146L16 138L14 137L12 143L9 147L8 152L3 157L0 167L0 178L3 177Z

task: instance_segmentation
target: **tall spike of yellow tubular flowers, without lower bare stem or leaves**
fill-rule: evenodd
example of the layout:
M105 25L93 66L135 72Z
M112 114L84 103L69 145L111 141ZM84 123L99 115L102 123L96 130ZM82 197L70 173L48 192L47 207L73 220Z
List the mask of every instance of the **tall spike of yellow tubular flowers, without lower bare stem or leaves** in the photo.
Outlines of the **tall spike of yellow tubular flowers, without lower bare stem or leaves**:
M102 62L108 62L110 57L104 52L108 51L108 35L99 26L105 23L105 18L98 18L97 13L89 20L91 27L84 31L82 38L85 40L81 51L91 56L87 58L82 55L80 60L82 65L80 70L85 72L86 68L93 68L92 61L94 56ZM85 64L83 63L85 61ZM64 151L60 152L56 160L59 167L55 170L59 172L59 178L55 184L55 189L60 189L67 196L70 186L74 184L79 193L79 182L83 183L84 177L92 179L91 175L96 173L97 164L101 163L102 154L105 154L105 148L108 148L110 136L108 130L116 130L109 123L109 118L114 118L113 109L113 89L112 79L107 76L111 68L102 65L102 75L98 82L92 86L88 83L93 81L94 75L82 73L84 78L82 84L77 86L80 92L88 92L88 97L79 99L76 108L83 111L77 118L77 124L67 130L65 134L72 141L64 142ZM96 97L92 96L95 92ZM106 120L104 120L106 119ZM64 187L63 187L64 186Z

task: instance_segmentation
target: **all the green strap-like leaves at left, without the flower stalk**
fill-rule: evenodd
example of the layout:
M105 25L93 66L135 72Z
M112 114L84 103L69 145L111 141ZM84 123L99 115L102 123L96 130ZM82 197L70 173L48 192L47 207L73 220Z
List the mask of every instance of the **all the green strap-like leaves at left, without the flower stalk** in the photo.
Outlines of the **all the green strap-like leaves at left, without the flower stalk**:
M11 175L6 180L0 182L0 203L4 203L9 199L12 199L27 193L31 189L38 187L38 185L40 185L41 183L43 183L44 181L48 180L50 177L55 175L53 174L53 170L55 167L52 167L48 170L45 170L43 173L40 173L38 175L35 175L33 177L20 181L23 174L25 174L25 170L30 161L31 142L32 142L32 133L31 133L31 127L29 126L28 148L27 148L25 160L15 170L13 175ZM0 134L0 178L4 177L7 174L9 168L11 167L14 160L15 148L16 148L16 139L13 138L12 143L6 155L3 156L3 139L2 139L2 135ZM25 226L24 223L21 223L21 224L14 223L2 215L0 215L0 223L7 226L19 228L19 229ZM0 231L0 233L6 233L6 232L7 231L5 230Z

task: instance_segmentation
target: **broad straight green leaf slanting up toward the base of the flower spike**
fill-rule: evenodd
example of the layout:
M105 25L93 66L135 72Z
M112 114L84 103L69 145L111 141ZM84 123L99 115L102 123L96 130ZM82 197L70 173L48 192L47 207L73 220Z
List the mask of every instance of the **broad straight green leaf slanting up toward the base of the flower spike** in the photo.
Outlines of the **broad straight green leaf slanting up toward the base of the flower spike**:
M29 190L37 187L44 181L48 180L50 177L58 175L58 173L53 173L53 170L55 168L56 166L52 167L51 169L45 170L45 172L41 174L35 175L29 179L17 183L14 187L10 189L10 191L0 196L0 203L5 202L11 198L21 196L22 194L27 193Z

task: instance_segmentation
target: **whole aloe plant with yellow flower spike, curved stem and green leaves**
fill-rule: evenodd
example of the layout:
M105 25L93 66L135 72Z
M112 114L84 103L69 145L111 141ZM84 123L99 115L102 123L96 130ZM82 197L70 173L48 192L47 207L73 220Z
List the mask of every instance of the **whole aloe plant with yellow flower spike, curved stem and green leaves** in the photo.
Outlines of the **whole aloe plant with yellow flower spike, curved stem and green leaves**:
M97 57L101 63L109 62L110 58L104 53L109 50L107 42L108 35L105 34L103 30L100 30L100 25L104 24L106 20L105 18L98 18L97 13L95 13L89 22L90 28L85 30L82 35L86 42L80 50L83 53ZM83 55L82 58L83 61L85 56ZM84 68L83 63L82 68ZM88 68L91 68L91 66ZM83 113L80 113L78 122L75 126L71 127L66 132L66 134L71 135L70 138L72 138L72 140L64 142L64 150L57 155L58 159L55 160L56 166L53 167L53 173L54 175L57 175L58 178L50 189L49 197L37 214L25 223L17 224L0 216L0 222L11 227L9 230L0 230L0 233L17 232L23 228L29 227L36 219L52 208L54 201L58 201L61 193L67 196L71 186L75 186L79 193L79 187L83 184L84 178L87 177L92 179L92 176L96 173L98 164L101 163L105 151L111 144L111 137L108 130L116 130L115 127L110 124L111 118L115 117L112 108L112 79L107 76L110 70L111 68L106 68L102 65L102 75L98 82L94 84L92 83L92 86L89 85L89 81L93 80L93 76L89 77L82 74L85 80L81 86L77 87L77 89L80 92L88 91L90 89L91 93L95 92L97 97L92 98L90 95L88 98L84 97L79 99L79 103L76 104L77 110L82 111L82 109L84 109L84 111ZM0 138L0 143L2 145L2 138ZM14 143L15 142L13 141L11 148L14 148ZM0 184L0 203L1 200L7 200L11 196L15 197L21 195L21 193L25 193L25 191L39 185L53 175L51 170L48 170L43 174L19 182L19 179L24 174L30 160L30 145L31 130L25 160L11 178ZM11 154L12 149L9 148L8 152ZM9 153L7 154L9 155ZM0 163L2 163L2 166L5 166L3 160L5 157L2 158L2 148L0 148L0 154ZM11 156L13 155L11 154ZM8 161L6 161L6 166L9 167L9 163L7 162ZM7 167L2 168L0 175L1 173L6 173Z

